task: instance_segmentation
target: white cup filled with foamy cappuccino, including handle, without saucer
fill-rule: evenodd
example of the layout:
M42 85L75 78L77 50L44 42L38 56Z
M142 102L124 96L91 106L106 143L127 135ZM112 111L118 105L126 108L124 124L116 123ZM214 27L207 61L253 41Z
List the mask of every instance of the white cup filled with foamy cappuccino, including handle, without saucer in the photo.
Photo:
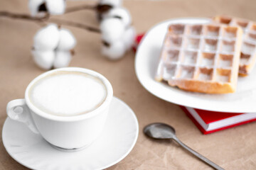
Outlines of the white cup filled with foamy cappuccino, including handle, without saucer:
M110 81L101 74L67 67L33 79L25 98L10 101L6 111L9 118L25 123L53 147L77 151L100 136L112 96Z

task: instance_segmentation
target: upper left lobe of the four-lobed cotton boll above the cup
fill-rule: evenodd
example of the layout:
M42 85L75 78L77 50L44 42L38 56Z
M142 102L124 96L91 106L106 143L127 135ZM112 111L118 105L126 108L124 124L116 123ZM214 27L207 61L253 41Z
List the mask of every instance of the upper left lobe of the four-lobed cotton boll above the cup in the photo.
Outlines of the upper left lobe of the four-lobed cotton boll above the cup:
M56 24L49 24L48 26L38 30L33 38L33 47L36 50L54 50L59 42L59 30Z

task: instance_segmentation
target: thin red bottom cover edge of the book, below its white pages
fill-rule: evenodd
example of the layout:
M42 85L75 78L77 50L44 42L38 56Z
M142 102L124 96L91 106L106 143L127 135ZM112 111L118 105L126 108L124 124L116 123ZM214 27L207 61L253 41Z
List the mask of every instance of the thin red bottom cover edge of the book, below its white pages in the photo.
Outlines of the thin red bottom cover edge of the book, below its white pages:
M202 132L204 135L207 135L207 134L213 133L213 132L218 132L218 131L220 131L220 130L225 130L225 129L228 129L228 128L233 128L233 127L235 127L235 126L243 125L243 124L245 124L245 123L250 123L250 122L253 122L253 121L256 120L256 118L255 118L255 119L247 120L247 121L242 122L242 123L236 123L236 124L233 124L233 125L225 126L225 127L223 127L223 128L219 128L219 129L215 129L215 130L206 131L206 130L203 129L203 127L201 127L201 125L196 121L196 119L193 118L193 116L191 115L191 113L189 113L188 110L186 110L186 108L185 108L184 106L180 106L180 107L181 107L181 109L186 113L186 115L188 115L188 118L191 118L191 120L193 121L193 123L197 126L197 128L198 128L199 130L201 130L201 132Z

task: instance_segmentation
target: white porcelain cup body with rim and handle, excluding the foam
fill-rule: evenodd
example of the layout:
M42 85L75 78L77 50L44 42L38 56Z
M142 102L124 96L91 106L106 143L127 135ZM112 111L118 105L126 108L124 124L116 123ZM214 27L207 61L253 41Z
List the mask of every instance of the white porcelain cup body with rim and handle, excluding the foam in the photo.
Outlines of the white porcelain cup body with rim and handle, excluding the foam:
M80 72L97 77L105 85L107 91L105 100L100 106L88 113L70 116L49 114L33 105L29 96L33 84L43 77L58 74L61 71ZM58 149L76 150L87 147L100 136L105 126L112 96L113 90L110 82L97 72L78 67L53 69L33 79L26 88L25 98L10 101L7 104L6 112L9 118L25 123L32 132L40 134Z

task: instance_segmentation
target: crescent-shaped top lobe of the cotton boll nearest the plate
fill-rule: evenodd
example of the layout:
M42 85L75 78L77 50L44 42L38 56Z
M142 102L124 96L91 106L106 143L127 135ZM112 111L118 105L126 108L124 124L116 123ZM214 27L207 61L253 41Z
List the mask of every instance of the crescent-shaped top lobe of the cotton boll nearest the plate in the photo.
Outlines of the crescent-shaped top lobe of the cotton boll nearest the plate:
M105 13L103 18L119 18L124 26L127 27L132 23L132 16L126 8L112 8L109 12Z

